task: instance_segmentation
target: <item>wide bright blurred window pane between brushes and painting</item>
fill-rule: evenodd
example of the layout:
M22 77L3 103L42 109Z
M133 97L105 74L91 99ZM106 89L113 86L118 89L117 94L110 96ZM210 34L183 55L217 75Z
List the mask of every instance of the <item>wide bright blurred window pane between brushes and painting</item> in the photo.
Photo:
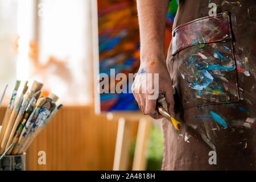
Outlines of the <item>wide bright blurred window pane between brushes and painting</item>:
M65 105L92 102L92 21L90 1L38 2L38 58L33 77ZM38 47L37 47L38 46ZM36 50L35 50L36 51Z

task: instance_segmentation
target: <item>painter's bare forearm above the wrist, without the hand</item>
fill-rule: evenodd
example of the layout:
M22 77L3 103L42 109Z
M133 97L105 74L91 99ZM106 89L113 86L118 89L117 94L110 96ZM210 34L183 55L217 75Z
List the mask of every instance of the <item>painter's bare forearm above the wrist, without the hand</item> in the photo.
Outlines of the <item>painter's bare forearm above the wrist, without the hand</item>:
M164 58L164 30L170 0L137 0L141 61ZM158 60L154 60L158 61Z

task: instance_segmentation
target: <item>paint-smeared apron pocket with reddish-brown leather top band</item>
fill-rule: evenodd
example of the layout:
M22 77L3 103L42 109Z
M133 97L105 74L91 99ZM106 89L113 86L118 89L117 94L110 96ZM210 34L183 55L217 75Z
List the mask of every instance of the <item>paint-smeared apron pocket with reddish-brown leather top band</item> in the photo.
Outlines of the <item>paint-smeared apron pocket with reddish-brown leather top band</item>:
M183 109L240 100L228 12L182 24L172 36L174 83Z

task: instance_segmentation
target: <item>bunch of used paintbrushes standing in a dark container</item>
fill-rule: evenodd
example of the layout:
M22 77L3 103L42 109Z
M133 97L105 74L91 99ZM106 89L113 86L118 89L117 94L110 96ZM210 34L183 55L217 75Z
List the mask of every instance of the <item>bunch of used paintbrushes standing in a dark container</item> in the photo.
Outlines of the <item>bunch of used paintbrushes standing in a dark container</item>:
M43 84L34 81L30 92L28 81L16 99L20 81L17 80L0 130L0 170L24 170L27 148L44 129L62 104L56 106L58 97L50 94L40 96ZM7 85L0 100L0 107ZM16 102L15 102L16 101Z

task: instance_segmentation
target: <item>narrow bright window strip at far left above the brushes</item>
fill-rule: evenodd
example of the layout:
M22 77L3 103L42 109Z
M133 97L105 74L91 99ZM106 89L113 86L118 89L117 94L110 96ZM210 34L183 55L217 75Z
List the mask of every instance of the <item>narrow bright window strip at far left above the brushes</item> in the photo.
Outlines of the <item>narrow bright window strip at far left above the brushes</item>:
M0 0L0 95L7 83L8 91L11 90L16 78L17 9L18 1ZM6 94L10 96L11 93ZM3 105L7 105L7 102L5 97Z

